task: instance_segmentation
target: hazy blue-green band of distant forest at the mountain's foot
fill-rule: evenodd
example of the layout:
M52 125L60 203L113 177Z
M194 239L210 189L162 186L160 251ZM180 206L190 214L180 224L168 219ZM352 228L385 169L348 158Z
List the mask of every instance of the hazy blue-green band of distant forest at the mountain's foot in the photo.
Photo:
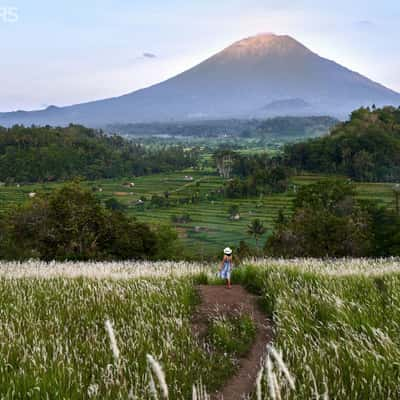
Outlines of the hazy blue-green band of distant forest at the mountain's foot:
M115 124L107 131L133 136L186 136L217 137L234 136L242 138L304 138L325 133L338 123L331 117L276 117L259 119L227 119L215 121Z

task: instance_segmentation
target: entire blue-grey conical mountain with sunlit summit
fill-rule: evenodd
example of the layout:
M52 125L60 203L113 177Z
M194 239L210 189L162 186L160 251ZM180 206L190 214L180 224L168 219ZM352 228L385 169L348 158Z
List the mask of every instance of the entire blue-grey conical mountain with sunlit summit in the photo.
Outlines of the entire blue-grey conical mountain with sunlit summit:
M299 102L309 106L298 107ZM400 95L319 57L290 36L262 34L236 42L149 88L69 107L0 114L0 124L102 126L273 115L345 116L373 103L399 105Z

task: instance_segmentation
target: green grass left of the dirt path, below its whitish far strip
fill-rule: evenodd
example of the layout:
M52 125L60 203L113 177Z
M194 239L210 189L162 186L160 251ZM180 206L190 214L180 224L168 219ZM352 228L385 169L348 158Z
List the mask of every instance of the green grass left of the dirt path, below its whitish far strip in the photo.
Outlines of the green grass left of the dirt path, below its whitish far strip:
M172 399L189 398L200 377L215 388L219 370L232 370L222 351L207 352L190 333L190 279L1 279L0 302L2 399L126 399L130 391L149 399L146 354L163 366Z

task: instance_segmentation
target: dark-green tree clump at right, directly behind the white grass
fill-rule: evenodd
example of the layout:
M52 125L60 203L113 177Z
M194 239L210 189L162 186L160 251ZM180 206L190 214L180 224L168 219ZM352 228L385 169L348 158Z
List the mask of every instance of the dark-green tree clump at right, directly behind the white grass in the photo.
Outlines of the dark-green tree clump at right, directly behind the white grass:
M302 187L290 218L280 213L265 253L280 257L387 257L400 253L400 215L356 198L340 180Z

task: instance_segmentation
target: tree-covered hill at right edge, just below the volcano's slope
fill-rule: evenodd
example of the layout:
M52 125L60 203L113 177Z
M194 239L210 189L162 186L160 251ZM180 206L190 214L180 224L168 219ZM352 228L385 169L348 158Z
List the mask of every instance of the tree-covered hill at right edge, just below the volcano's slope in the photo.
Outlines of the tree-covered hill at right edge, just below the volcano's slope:
M290 166L358 181L400 180L400 108L360 108L329 136L288 145Z

